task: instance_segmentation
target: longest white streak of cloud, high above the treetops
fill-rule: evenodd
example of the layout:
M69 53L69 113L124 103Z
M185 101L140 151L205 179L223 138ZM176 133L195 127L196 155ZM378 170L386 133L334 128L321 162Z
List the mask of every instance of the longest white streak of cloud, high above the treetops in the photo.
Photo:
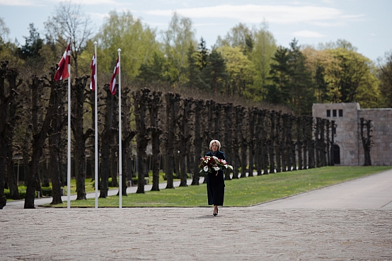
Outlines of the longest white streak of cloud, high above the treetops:
M231 18L243 23L289 24L315 21L338 21L343 18L357 18L344 15L340 9L322 6L260 6L246 4L241 6L221 5L201 8L176 9L180 15L189 18ZM173 10L150 10L150 15L172 16ZM345 16L345 17L343 17Z

